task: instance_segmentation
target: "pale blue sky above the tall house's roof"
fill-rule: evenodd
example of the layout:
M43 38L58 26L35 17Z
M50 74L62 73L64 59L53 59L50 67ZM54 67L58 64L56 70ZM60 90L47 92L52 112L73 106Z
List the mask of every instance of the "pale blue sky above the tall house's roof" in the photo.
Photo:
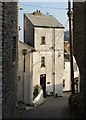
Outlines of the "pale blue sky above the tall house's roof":
M19 40L23 41L23 14L32 13L36 10L40 10L43 14L49 13L53 15L58 21L66 25L68 21L68 3L67 2L19 2L19 26L21 30L19 31ZM66 28L66 30L68 27Z

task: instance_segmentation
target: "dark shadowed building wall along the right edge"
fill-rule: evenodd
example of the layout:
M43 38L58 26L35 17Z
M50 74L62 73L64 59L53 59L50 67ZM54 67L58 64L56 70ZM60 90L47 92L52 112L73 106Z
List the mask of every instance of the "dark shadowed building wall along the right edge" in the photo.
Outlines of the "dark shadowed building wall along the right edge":
M80 113L86 118L86 1L74 2L74 55L80 70Z

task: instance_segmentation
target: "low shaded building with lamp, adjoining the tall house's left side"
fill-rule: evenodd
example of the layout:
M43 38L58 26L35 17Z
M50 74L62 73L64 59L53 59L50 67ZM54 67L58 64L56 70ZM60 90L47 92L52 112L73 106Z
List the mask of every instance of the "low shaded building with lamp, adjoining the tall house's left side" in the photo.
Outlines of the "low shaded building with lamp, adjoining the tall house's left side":
M23 72L23 63L24 56L22 53L23 49L27 49L27 54L25 56L25 73ZM33 101L33 78L32 78L32 61L33 55L30 52L31 47L28 45L18 42L18 76L20 76L20 80L18 80L18 89L17 89L17 101L23 101L25 104L32 104ZM24 82L23 82L24 80ZM23 94L24 87L24 94ZM23 100L24 96L24 100Z

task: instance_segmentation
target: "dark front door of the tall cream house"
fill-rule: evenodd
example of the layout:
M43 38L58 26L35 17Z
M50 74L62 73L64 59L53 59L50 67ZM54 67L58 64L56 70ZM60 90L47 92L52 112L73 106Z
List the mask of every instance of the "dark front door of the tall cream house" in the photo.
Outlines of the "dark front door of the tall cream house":
M46 95L46 74L40 75L40 85L43 89L43 96Z

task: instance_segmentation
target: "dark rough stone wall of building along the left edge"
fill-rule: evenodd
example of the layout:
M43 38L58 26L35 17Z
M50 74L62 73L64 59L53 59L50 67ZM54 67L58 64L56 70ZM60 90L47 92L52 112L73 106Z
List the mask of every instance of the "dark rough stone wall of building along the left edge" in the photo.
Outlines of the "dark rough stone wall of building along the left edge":
M0 2L0 118L12 118L15 116L17 18L17 2Z

